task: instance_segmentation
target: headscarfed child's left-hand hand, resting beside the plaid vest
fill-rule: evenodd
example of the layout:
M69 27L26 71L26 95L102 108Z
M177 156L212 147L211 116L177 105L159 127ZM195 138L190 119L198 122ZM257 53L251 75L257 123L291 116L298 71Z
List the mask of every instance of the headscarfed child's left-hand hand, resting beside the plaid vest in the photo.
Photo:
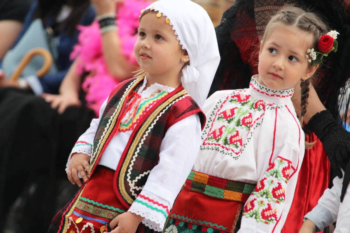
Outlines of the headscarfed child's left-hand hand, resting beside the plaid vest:
M75 153L72 155L68 167L68 180L72 184L77 184L79 187L82 187L82 182L78 177L78 173L82 176L84 182L87 182L87 174L90 174L90 156L83 153Z

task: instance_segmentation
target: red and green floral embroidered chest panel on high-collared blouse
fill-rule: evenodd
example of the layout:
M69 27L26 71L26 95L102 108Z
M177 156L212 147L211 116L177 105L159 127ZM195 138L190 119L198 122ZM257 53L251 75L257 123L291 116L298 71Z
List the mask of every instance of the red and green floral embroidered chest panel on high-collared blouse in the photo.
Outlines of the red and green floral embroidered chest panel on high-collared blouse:
M265 103L244 89L220 99L203 130L201 150L216 150L238 159L261 124L264 111Z

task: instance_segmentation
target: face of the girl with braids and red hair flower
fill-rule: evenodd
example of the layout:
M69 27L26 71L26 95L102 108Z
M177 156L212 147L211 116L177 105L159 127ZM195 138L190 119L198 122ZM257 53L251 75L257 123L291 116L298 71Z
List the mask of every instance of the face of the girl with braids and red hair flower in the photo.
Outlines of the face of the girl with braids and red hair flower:
M301 79L315 72L306 59L306 50L313 42L311 33L294 26L277 24L261 42L259 52L259 83L273 90L293 88Z

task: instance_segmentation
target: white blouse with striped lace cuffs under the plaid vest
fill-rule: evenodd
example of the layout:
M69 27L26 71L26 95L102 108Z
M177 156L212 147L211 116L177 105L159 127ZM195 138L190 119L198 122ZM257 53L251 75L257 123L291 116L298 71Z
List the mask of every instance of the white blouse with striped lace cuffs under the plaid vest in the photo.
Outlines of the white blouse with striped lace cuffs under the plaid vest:
M125 115L117 136L113 137L106 147L99 165L116 170L121 154L130 139L133 123L139 119L142 111L152 106L153 100L174 90L172 87L158 83L144 90L146 82L145 78L143 85L138 90L138 94L141 95L139 106L142 107L138 108L134 117L135 109L131 109L130 114ZM107 100L102 104L99 116L102 116L106 104ZM69 156L66 171L73 153L84 153L91 156L91 146L99 122L100 118L93 119L90 128L79 137ZM169 210L190 173L201 144L201 131L201 123L197 114L182 119L167 130L161 143L158 165L152 169L140 195L128 210L145 217L142 223L155 231L163 230Z

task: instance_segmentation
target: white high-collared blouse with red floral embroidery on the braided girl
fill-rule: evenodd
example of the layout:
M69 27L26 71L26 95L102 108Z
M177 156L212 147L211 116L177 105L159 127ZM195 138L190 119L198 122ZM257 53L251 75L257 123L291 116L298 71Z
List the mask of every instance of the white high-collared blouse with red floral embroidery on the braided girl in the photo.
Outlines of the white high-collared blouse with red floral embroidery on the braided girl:
M304 133L291 96L254 75L250 88L211 95L194 170L257 183L244 205L240 233L280 232L292 204L304 156Z

